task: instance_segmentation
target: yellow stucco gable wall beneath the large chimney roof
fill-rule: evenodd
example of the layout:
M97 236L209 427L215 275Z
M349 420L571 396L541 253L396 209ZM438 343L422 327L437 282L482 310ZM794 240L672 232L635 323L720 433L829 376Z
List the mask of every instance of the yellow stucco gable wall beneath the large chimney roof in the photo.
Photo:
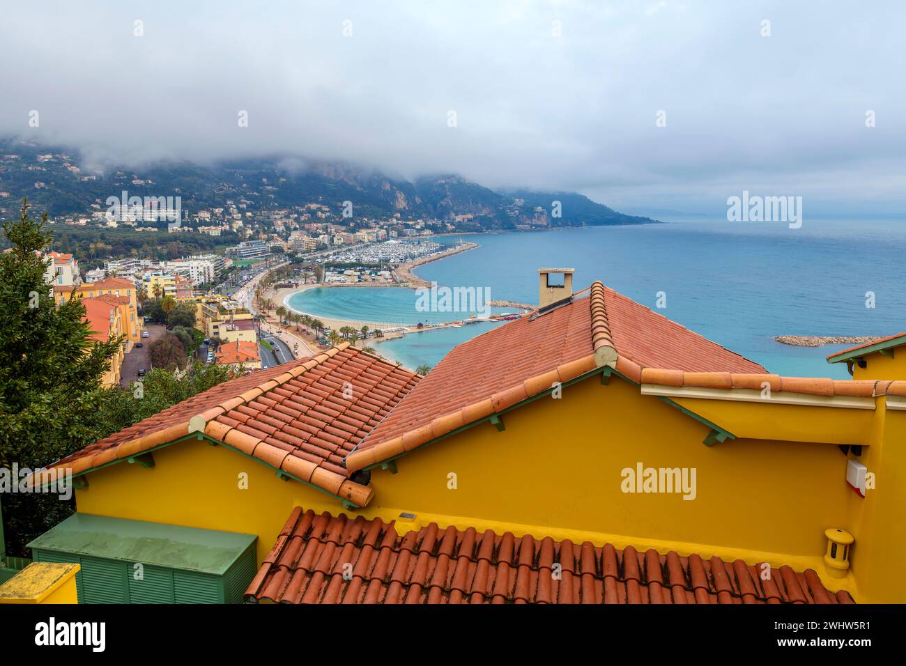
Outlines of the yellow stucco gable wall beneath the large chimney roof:
M706 447L708 429L637 387L597 379L375 469L374 503L791 555L824 554L846 519L845 459L831 445L744 439ZM696 468L697 497L622 492L622 469ZM448 489L448 473L458 487Z

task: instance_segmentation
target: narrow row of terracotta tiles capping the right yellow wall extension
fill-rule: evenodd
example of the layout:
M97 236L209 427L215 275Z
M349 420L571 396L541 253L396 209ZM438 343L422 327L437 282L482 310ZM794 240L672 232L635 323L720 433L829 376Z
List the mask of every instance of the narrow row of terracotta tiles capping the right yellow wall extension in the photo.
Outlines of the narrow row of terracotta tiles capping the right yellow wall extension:
M805 393L809 395L872 398L885 395L891 391L892 384L903 384L906 381L879 380L832 380L821 377L781 377L776 374L737 374L731 372L682 372L681 370L662 370L644 368L641 371L641 383L659 384L660 386L694 386L704 389L762 389L767 382L771 391ZM894 387L897 391L898 387Z

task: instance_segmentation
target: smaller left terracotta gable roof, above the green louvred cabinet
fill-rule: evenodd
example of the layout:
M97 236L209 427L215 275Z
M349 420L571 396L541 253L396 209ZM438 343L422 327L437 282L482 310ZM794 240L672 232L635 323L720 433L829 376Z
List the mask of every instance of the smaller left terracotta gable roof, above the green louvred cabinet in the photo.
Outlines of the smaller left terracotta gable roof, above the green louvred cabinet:
M350 480L342 458L418 381L415 373L343 343L226 381L51 467L79 474L203 430L363 507L371 487Z

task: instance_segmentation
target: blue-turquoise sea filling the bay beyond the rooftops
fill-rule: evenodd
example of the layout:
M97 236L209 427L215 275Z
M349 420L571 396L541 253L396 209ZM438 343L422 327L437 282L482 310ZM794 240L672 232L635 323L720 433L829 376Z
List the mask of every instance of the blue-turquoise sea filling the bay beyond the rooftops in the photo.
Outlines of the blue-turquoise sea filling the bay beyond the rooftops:
M906 217L728 222L674 217L664 224L577 227L462 236L476 249L421 265L439 286L487 288L494 300L536 303L537 269L575 269L576 290L601 280L728 349L790 376L846 379L826 362L851 344L798 347L777 335L891 335L906 330ZM455 243L459 236L436 240ZM483 292L487 293L487 292ZM311 289L288 304L318 316L434 323L416 292L399 287ZM513 308L493 308L492 312ZM462 315L467 316L467 315ZM426 329L369 344L406 367L435 365L458 343L499 323Z

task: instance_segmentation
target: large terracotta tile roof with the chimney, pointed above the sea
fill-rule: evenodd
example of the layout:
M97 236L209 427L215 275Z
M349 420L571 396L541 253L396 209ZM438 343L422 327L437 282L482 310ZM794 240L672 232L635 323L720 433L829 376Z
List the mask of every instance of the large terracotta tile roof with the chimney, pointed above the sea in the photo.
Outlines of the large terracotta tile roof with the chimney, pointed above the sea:
M350 469L400 455L603 365L632 381L641 368L766 372L600 282L586 298L478 335L449 352L346 459Z

